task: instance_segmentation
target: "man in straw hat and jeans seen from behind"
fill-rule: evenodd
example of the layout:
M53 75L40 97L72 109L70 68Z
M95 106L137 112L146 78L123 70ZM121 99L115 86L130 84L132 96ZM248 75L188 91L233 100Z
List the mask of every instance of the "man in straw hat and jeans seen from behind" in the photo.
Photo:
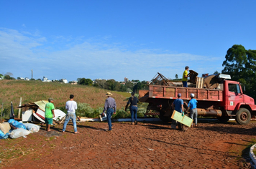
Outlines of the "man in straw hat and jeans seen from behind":
M114 98L111 97L111 92L107 92L106 96L108 97L106 99L105 102L105 106L104 106L104 110L103 113L106 111L106 119L108 121L109 124L109 132L111 132L112 130L112 124L111 124L111 116L114 114L116 114L116 100L114 100Z

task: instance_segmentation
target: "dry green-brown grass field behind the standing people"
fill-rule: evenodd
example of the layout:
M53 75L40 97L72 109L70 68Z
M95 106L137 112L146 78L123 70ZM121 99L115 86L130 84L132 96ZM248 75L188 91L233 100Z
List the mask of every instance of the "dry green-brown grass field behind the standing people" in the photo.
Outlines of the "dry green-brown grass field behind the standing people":
M60 84L57 82L0 80L0 104L4 104L3 112L5 115L9 115L11 102L14 105L14 112L17 114L20 97L22 97L22 104L47 100L49 97L52 97L55 100L55 107L63 110L70 94L75 95L74 100L79 105L86 105L93 110L102 111L106 100L106 92L108 90L96 87ZM114 91L112 93L112 97L116 100L117 110L123 110L127 103L127 97L130 97L130 94Z

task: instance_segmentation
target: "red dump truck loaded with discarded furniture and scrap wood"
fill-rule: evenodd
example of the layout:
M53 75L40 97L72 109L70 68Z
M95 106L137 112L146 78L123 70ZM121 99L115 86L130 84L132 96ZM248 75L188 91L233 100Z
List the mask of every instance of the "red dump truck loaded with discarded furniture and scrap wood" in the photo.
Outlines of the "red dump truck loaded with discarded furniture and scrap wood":
M244 95L239 82L228 80L230 76L227 74L198 78L192 70L191 73L191 84L188 87L179 87L158 73L158 77L162 78L156 78L158 84L152 83L149 90L139 91L140 102L149 103L146 114L159 115L161 120L170 121L173 112L171 105L178 93L187 103L193 93L198 101L198 116L217 117L221 122L235 118L240 125L250 122L252 115L256 113L255 100ZM186 104L184 110L187 110Z

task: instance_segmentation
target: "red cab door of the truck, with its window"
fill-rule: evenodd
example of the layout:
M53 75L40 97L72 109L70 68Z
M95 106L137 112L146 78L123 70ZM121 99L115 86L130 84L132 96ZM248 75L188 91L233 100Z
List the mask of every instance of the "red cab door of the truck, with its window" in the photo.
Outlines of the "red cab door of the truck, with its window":
M229 83L228 85L229 85L229 91L227 95L227 100L228 100L227 109L234 110L239 102L243 102L242 92L240 90L239 84Z

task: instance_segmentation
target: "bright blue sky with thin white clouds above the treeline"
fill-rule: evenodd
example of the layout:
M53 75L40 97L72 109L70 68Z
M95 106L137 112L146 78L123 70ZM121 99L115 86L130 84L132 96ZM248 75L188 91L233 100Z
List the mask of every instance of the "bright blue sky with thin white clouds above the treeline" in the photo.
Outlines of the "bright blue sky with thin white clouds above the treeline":
M256 48L256 1L0 0L0 73L150 80L221 72L234 44Z

